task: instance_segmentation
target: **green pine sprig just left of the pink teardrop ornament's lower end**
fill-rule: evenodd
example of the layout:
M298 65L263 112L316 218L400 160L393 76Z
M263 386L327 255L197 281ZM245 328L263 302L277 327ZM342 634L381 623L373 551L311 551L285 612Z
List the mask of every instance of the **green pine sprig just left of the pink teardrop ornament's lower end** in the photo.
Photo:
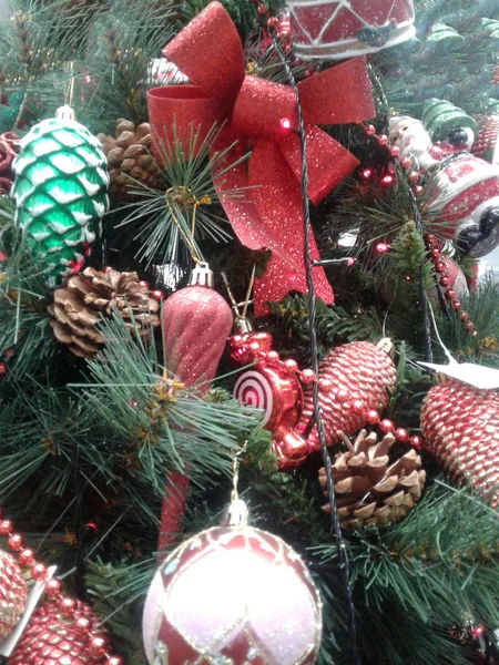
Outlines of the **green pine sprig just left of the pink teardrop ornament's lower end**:
M230 474L232 456L257 419L228 402L203 401L184 391L157 358L154 344L136 338L118 317L103 321L109 344L89 361L88 383L75 386L90 422L82 451L101 484L120 482L120 501L157 521L147 503L165 490L165 472L187 474L204 488Z

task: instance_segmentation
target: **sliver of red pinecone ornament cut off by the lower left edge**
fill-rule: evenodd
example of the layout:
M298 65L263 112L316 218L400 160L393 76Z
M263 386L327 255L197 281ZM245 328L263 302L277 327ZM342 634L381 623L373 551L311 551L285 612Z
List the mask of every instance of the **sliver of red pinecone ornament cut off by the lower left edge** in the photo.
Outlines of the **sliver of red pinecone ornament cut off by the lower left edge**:
M0 550L0 641L8 637L24 612L26 582L13 556Z

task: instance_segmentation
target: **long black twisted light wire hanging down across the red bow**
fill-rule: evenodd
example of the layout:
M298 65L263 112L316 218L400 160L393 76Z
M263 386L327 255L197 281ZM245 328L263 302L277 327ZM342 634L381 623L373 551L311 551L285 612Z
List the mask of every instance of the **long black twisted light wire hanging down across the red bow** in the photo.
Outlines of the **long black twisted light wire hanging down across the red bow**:
M286 57L281 48L279 42L277 41L273 31L269 31L272 34L272 41L276 53L285 69L287 80L289 85L293 89L296 100L296 115L298 125L296 127L296 133L299 136L299 143L302 149L302 201L303 201L303 228L304 228L304 263L305 263L305 273L306 273L306 282L308 289L308 323L310 328L310 356L312 356L312 369L316 377L318 377L318 349L317 349L317 335L315 329L315 319L316 319L316 307L315 307L315 287L314 287L314 277L313 269L314 266L317 265L316 262L309 255L308 252L308 241L310 235L310 224L309 224L309 204L308 204L308 172L307 172L307 144L306 144L306 133L305 133L305 123L303 120L302 105L299 102L299 91L296 84L295 76L289 66ZM320 454L323 459L324 469L326 470L326 484L327 484L327 493L330 509L330 531L332 538L336 543L336 548L339 556L339 571L342 575L342 582L345 591L345 610L347 617L347 627L348 627L348 647L349 654L352 655L350 663L352 665L359 665L359 653L357 646L357 628L355 622L355 607L354 600L352 595L352 585L350 585L350 565L348 560L348 551L345 543L345 540L342 535L342 526L339 524L338 511L336 508L336 499L335 499L335 482L333 480L333 474L330 470L330 458L326 446L326 437L324 432L324 423L322 418L322 410L319 406L318 399L318 381L314 381L313 383L313 406L314 406L314 420L317 428L317 437L320 443Z

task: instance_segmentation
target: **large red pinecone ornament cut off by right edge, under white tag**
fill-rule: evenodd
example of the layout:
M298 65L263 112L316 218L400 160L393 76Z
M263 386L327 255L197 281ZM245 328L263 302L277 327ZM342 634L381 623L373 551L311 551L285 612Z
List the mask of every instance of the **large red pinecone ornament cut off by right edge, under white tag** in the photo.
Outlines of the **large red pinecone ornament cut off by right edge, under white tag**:
M457 380L431 388L421 410L427 446L449 475L499 503L499 393Z

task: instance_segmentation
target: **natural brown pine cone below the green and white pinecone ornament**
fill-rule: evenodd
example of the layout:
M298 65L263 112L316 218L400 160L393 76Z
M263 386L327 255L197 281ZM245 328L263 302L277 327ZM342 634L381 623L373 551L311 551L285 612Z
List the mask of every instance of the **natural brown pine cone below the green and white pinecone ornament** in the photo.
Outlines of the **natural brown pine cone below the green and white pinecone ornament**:
M102 317L113 311L125 320L130 329L142 337L150 334L151 326L160 325L156 314L160 305L150 297L144 283L136 273L119 273L108 269L99 272L85 268L83 273L70 277L68 284L57 288L50 325L59 341L82 358L92 358L104 344L99 332Z

